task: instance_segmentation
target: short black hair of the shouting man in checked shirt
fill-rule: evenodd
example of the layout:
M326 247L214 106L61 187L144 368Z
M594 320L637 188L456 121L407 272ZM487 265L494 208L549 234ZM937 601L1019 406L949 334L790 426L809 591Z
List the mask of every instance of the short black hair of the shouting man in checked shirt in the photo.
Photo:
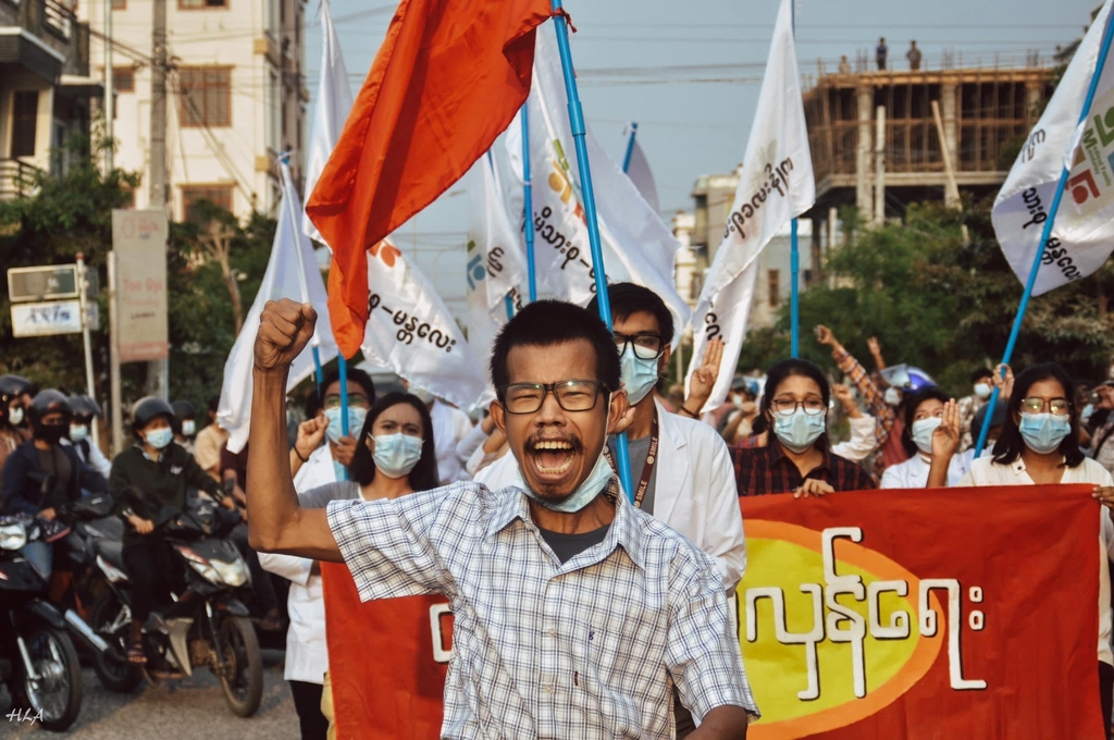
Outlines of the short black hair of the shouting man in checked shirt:
M553 347L578 339L587 340L596 350L595 380L618 390L622 380L615 338L598 314L565 301L535 301L504 325L491 347L491 383L502 388L510 382L507 358L511 349Z

